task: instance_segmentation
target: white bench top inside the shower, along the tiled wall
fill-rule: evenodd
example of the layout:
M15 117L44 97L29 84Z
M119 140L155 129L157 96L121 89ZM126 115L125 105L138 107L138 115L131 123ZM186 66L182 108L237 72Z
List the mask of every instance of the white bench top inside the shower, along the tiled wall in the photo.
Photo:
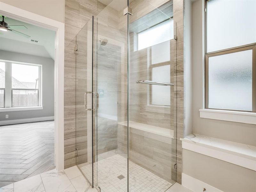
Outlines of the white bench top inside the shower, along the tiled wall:
M127 121L118 122L118 124L127 126ZM129 121L129 127L174 139L174 137L173 137L174 131L172 129L166 129L163 127L157 127L157 126L153 126L153 125L137 123L134 121Z

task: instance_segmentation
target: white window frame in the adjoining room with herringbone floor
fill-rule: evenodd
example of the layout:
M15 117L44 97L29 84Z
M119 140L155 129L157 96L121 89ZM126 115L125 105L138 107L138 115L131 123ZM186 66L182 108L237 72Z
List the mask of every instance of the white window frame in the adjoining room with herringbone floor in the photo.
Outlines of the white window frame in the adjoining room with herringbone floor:
M42 70L43 70L43 66L40 64L35 64L35 63L25 63L25 62L19 62L19 61L9 61L9 60L0 60L1 62L4 62L5 65L6 63L9 63L9 65L11 64L10 68L5 69L5 76L8 73L7 76L9 76L11 79L9 79L9 81L11 82L11 84L6 87L6 82L5 82L5 88L4 89L4 107L0 108L1 111L4 109L15 109L15 108L41 108L42 107ZM21 64L21 65L31 65L31 66L37 66L38 67L38 89L23 89L23 88L12 88L12 64ZM6 78L6 77L5 77ZM2 89L2 88L1 88ZM6 99L6 89L7 91L10 92L10 97ZM38 105L36 106L18 106L18 107L13 107L13 97L12 97L12 91L13 90L37 90L37 103ZM6 103L8 102L8 103Z

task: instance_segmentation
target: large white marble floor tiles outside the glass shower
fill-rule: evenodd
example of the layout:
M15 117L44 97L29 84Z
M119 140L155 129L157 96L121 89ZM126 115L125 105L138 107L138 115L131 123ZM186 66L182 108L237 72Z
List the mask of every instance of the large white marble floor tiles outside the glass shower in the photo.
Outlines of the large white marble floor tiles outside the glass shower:
M146 192L143 190L140 192ZM92 188L77 166L57 172L51 170L0 188L0 192L98 192ZM112 190L106 191L112 192ZM122 191L118 191L122 192ZM166 192L192 192L178 183Z

